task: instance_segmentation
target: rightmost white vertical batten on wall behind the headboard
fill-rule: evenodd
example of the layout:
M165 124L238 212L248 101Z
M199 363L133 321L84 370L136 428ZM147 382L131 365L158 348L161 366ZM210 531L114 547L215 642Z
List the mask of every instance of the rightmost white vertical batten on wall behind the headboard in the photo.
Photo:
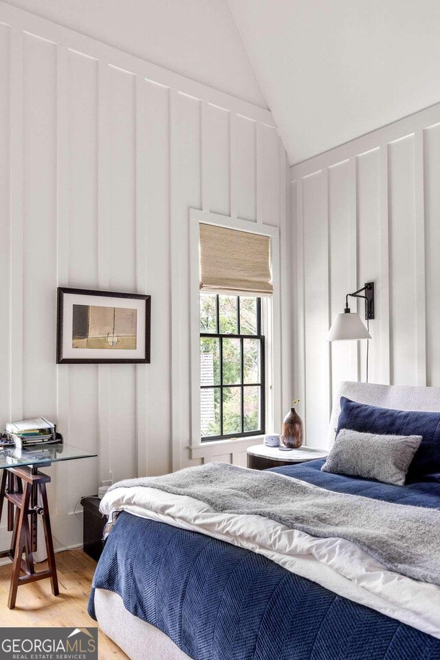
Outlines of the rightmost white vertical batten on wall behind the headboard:
M425 159L424 132L415 133L414 215L416 277L417 385L426 385L426 251L425 251Z

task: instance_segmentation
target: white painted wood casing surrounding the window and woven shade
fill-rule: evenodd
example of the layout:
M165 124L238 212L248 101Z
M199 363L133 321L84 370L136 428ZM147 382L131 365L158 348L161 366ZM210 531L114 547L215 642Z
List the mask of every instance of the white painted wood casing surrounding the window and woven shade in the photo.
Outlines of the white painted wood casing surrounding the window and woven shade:
M262 323L265 335L265 428L274 433L281 431L283 419L283 369L281 364L281 229L274 224L258 223L252 220L243 220L240 217L220 215L212 211L201 211L201 209L189 209L189 383L186 381L186 335L176 328L171 337L172 358L172 413L173 413L173 467L181 467L180 452L182 446L186 445L189 450L189 460L208 460L213 456L228 456L229 452L234 454L245 450L252 444L263 440L261 436L247 436L232 440L214 440L212 442L201 441L200 429L200 306L199 306L199 282L200 282L200 254L199 254L199 224L217 224L222 227L260 233L270 237L272 282L274 293L271 298L262 299ZM175 264L176 273L180 273L180 266ZM183 277L183 274L181 275ZM177 277L177 276L176 276ZM175 295L171 299L172 310L175 310L177 318L181 319L184 314L185 300L181 295ZM179 310L177 313L176 310ZM174 312L173 312L174 314ZM189 390L188 390L189 385ZM289 394L285 395L286 401ZM188 401L188 408L186 401ZM188 417L187 415L188 410ZM182 430L188 421L188 436ZM235 437L235 436L234 436ZM185 442L186 440L186 442Z

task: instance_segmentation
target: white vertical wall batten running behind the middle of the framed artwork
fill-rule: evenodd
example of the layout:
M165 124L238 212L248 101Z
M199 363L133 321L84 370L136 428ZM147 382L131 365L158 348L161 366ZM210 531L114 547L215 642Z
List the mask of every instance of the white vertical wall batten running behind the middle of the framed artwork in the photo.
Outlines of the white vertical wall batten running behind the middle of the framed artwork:
M109 65L98 63L98 287L109 290ZM111 482L111 366L98 365L100 482Z

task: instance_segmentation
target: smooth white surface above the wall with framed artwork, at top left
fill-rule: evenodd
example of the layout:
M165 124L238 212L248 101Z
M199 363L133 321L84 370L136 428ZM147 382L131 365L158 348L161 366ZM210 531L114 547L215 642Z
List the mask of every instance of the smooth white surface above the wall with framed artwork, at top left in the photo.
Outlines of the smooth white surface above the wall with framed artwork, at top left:
M226 0L8 0L266 108Z

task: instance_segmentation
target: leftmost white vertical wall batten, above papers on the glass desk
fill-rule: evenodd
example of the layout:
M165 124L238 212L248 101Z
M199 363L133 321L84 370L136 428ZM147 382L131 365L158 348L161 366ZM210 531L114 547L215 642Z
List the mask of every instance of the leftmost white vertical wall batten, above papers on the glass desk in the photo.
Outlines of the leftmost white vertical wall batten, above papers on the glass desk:
M23 32L11 30L10 418L23 417Z

